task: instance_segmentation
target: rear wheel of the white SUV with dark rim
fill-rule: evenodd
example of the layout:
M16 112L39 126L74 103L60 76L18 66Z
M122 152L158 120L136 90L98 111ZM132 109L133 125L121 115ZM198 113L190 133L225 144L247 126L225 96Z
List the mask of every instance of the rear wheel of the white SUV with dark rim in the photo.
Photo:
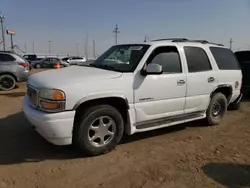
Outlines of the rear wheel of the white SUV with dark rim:
M219 125L227 112L227 98L222 93L215 93L206 111L208 125Z

